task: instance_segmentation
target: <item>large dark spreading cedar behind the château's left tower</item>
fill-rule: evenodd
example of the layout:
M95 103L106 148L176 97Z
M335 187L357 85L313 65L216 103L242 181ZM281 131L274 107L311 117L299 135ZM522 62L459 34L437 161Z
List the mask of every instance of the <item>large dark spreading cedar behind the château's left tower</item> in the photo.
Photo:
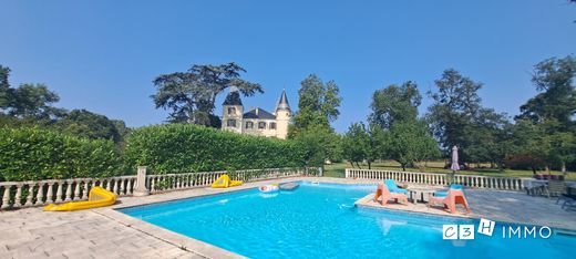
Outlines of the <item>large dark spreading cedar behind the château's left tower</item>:
M162 74L153 81L157 92L152 99L156 108L172 110L171 122L217 124L218 120L214 117L216 96L227 87L235 86L245 96L264 93L261 85L243 80L240 73L246 70L232 62L193 65L186 72Z

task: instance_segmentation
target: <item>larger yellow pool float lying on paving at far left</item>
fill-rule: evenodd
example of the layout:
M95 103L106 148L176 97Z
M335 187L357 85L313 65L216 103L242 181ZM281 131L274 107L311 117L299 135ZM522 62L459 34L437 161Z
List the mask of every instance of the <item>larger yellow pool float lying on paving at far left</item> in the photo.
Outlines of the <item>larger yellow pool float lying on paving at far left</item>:
M50 204L44 207L44 211L72 211L80 209L97 208L116 203L116 195L100 186L90 190L86 201L71 201L61 205Z

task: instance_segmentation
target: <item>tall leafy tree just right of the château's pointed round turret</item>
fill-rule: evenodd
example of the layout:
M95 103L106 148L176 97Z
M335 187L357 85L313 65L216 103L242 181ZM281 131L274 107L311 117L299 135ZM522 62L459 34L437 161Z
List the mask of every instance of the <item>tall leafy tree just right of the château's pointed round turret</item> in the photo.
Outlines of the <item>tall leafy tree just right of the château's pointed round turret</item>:
M290 135L315 125L330 128L330 123L340 115L338 107L342 99L338 85L333 81L323 83L315 74L308 75L300 84L298 112L294 116Z

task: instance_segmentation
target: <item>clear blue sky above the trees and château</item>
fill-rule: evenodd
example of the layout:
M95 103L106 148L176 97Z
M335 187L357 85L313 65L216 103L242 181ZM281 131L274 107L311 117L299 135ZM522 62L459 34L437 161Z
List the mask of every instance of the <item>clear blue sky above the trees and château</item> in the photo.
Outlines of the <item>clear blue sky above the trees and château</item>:
M56 106L128 126L163 122L151 81L192 64L239 63L266 90L245 105L266 110L284 87L296 107L316 73L341 89L343 132L374 90L413 80L425 93L448 68L485 84L485 106L517 114L532 66L576 52L574 20L565 0L2 1L0 64L13 85L48 84Z

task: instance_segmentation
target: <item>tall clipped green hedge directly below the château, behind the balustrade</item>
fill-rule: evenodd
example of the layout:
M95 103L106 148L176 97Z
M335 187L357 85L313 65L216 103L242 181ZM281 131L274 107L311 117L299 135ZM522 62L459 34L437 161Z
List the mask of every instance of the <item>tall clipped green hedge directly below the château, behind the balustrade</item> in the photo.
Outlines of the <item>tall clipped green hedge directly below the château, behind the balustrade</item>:
M298 144L223 132L189 124L135 130L126 141L127 166L155 173L206 172L305 166Z

